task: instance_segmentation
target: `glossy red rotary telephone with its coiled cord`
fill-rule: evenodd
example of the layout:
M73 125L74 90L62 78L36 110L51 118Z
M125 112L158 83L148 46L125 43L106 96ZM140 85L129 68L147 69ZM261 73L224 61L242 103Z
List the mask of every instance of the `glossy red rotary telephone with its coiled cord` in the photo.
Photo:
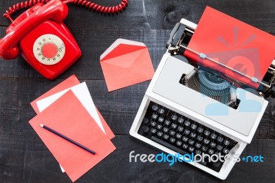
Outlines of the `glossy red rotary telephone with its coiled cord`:
M44 5L44 3L46 3ZM81 56L80 48L63 23L68 14L67 3L75 3L102 13L115 13L124 9L128 0L118 6L105 7L83 0L30 0L17 3L4 17L12 23L0 39L0 57L5 60L19 54L47 79L65 72ZM32 7L14 21L10 18L19 9Z

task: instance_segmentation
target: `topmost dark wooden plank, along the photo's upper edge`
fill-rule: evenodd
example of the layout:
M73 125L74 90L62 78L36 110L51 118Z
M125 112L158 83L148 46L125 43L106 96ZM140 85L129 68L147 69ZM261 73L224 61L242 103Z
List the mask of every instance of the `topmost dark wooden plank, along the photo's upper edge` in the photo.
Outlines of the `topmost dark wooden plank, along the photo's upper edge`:
M1 2L0 12L5 12L9 6L18 2L19 0ZM103 2L95 0L94 2L113 6L120 1ZM206 6L216 8L267 32L275 33L275 4L272 0L264 1L264 3L257 0L130 0L129 6L124 12L119 13L119 16L102 15L96 12L89 12L89 10L85 10L85 8L69 5L69 16L65 23L67 23L69 28L93 28L93 30L120 27L124 29L172 29L175 23L182 17L197 23ZM7 19L0 19L0 25L7 26L9 24L10 21Z

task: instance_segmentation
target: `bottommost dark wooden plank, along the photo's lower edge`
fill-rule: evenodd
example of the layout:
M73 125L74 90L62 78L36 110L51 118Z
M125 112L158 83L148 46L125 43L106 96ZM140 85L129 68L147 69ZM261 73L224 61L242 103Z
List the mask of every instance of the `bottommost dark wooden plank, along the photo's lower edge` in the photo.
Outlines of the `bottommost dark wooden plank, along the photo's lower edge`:
M117 149L77 182L220 182L186 163L129 162L129 153L161 153L130 136L116 136ZM0 134L1 182L70 182L36 133ZM241 155L262 155L264 162L237 162L225 182L274 182L275 140L254 140ZM117 168L119 167L119 168ZM245 170L245 171L244 171Z

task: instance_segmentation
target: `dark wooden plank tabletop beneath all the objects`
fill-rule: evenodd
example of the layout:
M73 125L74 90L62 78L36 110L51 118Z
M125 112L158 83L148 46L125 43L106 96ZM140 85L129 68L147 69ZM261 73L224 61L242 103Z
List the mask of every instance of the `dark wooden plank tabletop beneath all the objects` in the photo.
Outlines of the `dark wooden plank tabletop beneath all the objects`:
M0 13L18 1L1 1ZM118 1L96 2L113 6ZM131 151L147 155L160 152L129 136L149 81L108 93L99 63L100 54L113 41L123 38L144 42L156 69L175 23L182 17L198 23L206 6L275 34L273 0L129 0L126 11L114 16L70 5L65 23L83 56L67 72L50 81L21 56L14 61L0 59L0 182L70 182L28 121L35 116L30 102L72 74L87 83L96 106L115 133L112 141L117 147L77 182L221 182L186 163L130 163ZM0 18L1 37L9 24L8 19ZM236 163L224 182L275 182L274 151L275 100L270 99L252 143L243 152L261 154L264 162Z

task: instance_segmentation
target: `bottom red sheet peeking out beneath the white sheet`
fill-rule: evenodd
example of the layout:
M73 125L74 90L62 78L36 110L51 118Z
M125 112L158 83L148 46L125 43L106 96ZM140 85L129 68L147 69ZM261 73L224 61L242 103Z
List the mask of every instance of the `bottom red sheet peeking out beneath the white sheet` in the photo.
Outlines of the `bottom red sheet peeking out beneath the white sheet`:
M34 109L34 111L36 112L36 114L39 114L39 108L36 105L36 101L42 100L43 98L47 98L48 96L51 96L53 94L56 94L58 92L63 91L64 89L67 89L69 87L73 87L75 85L80 84L78 78L76 78L75 75L70 76L69 78L67 78L66 80L64 80L62 83L56 85L56 87L50 89L48 92L46 92L45 94L43 94L42 96L40 96L39 98L36 98L36 100L32 101L32 103L30 103L32 105L32 108ZM113 134L113 131L111 131L109 125L107 124L107 122L104 120L104 118L102 117L102 115L100 114L100 112L98 111L98 116L100 117L100 120L102 122L102 125L104 127L104 130L106 132L106 136L109 139L112 139L115 137L115 135Z

